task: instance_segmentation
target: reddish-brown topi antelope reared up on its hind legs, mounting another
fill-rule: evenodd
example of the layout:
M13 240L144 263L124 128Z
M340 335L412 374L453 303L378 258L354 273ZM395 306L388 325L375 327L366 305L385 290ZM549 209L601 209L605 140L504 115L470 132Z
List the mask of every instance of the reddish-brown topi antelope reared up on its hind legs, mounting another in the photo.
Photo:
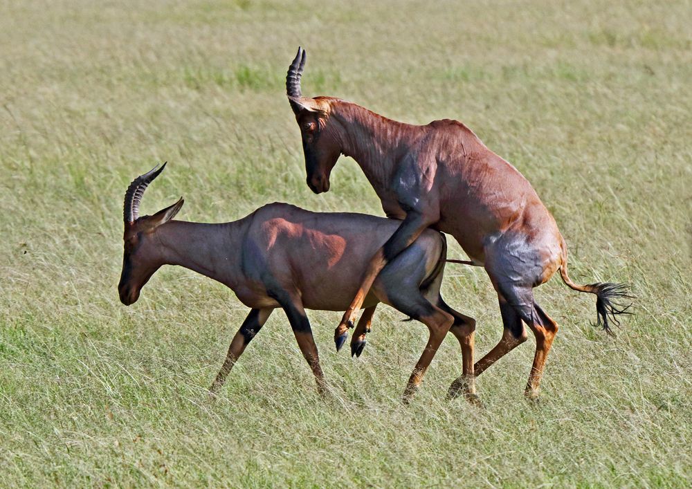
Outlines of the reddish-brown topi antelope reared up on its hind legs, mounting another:
M338 98L303 97L304 65L305 51L298 48L286 75L286 94L300 126L307 185L316 194L327 192L336 160L341 154L350 156L363 169L385 214L401 219L394 234L370 257L337 337L353 326L379 271L428 226L451 234L473 264L485 268L498 293L504 333L476 362L473 375L525 342L524 322L536 337L525 394L538 396L558 325L536 304L533 288L558 269L567 286L597 296L598 324L606 332L611 333L611 323L619 324L615 316L629 307L617 303L630 297L626 286L578 285L570 280L567 246L553 216L527 179L471 129L455 120L404 124ZM450 387L450 395L456 394L457 386Z

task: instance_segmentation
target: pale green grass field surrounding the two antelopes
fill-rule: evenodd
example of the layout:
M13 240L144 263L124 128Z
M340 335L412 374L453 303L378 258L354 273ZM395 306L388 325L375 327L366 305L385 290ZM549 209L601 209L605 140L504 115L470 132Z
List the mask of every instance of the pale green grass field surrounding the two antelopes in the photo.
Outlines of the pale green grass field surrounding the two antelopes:
M5 3L0 486L689 485L689 1L347 4ZM284 96L299 44L304 93L464 121L533 183L575 281L632 285L615 340L589 324L594 297L537 290L561 324L538 407L532 338L478 378L486 409L444 400L454 338L403 407L428 333L391 308L357 360L334 351L340 313L310 314L336 400L277 313L208 403L246 308L179 268L118 301L122 195L163 160L143 213L183 195L194 221L272 201L382 215L350 159L328 194L304 184ZM484 271L448 266L443 293L477 319L480 357L501 333Z

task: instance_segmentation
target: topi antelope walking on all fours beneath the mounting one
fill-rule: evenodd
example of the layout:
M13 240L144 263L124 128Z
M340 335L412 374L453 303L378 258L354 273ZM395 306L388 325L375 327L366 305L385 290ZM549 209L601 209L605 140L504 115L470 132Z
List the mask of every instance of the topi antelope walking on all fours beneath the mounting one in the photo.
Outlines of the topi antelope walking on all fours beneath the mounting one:
M153 216L139 216L147 185L164 168L165 163L138 176L125 194L125 253L118 284L122 304L134 304L162 265L190 268L232 289L251 311L230 343L226 361L210 387L212 394L224 384L272 311L280 307L318 390L325 393L327 386L305 309L344 311L358 289L367 259L397 229L397 221L364 214L309 212L284 203L264 205L230 223L173 221L183 206L182 198ZM406 402L447 331L455 335L462 349L463 373L455 382L469 400L477 400L469 375L475 322L450 308L439 294L445 258L444 236L433 230L421 233L374 280L352 338L352 353L360 356L379 302L428 326L430 339L404 391Z

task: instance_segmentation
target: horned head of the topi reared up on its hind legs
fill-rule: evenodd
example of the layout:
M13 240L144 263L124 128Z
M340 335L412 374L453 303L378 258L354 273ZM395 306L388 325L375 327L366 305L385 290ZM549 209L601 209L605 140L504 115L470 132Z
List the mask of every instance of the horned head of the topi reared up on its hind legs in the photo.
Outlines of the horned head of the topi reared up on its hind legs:
M286 74L286 95L300 127L307 185L320 194L329 190L329 175L341 154L341 145L334 127L338 122L329 120L329 98L307 98L300 92L304 66L305 50L298 48Z

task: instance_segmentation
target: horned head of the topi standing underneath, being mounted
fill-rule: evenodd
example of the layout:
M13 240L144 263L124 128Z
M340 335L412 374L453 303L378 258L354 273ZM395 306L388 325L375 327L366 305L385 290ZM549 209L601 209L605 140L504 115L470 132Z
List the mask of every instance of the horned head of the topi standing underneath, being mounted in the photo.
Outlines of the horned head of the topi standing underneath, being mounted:
M138 176L125 192L125 205L122 212L125 220L125 234L122 237L125 241L125 252L122 255L118 293L120 302L126 306L137 302L142 287L164 264L163 250L156 239L156 230L173 219L183 207L184 201L181 197L179 201L156 212L153 216L139 216L139 204L144 191L165 167L166 163L163 163L161 168L156 165L152 171Z

